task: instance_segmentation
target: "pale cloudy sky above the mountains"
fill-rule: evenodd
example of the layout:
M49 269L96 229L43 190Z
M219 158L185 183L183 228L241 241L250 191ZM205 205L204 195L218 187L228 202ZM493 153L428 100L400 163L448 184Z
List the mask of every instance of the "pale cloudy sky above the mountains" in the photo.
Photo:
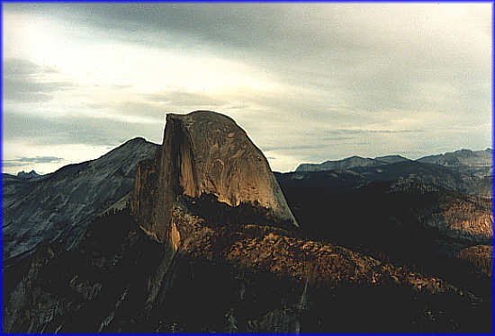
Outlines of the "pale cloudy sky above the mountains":
M166 113L235 119L272 169L491 147L491 3L3 2L3 172L54 172Z

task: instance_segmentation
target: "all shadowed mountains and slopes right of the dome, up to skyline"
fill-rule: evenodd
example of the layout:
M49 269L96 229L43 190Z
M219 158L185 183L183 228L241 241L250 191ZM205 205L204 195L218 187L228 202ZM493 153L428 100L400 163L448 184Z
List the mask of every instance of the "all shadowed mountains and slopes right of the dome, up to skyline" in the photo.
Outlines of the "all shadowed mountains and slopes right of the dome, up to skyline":
M400 262L428 265L448 277L465 249L491 244L491 155L487 148L418 160L352 156L276 176L307 232L354 249L388 250L401 255ZM347 225L313 225L322 218Z

